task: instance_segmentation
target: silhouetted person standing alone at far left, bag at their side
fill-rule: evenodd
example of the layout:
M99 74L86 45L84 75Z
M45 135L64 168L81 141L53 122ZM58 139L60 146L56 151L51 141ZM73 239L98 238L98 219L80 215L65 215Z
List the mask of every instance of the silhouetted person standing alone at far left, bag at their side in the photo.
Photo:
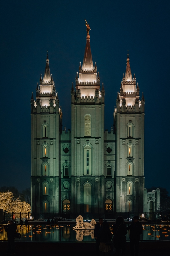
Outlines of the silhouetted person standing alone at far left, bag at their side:
M15 248L14 248L14 237L15 232L17 230L17 225L14 223L13 220L9 221L9 225L4 226L5 231L7 232L7 239L8 239L8 253L15 254Z

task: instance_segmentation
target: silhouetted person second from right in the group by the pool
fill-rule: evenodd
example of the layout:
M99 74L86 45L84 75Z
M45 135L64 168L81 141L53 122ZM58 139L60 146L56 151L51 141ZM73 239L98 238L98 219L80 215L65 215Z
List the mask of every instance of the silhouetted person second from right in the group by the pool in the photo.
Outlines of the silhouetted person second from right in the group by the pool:
M115 255L125 255L127 229L122 216L117 217L113 225Z

